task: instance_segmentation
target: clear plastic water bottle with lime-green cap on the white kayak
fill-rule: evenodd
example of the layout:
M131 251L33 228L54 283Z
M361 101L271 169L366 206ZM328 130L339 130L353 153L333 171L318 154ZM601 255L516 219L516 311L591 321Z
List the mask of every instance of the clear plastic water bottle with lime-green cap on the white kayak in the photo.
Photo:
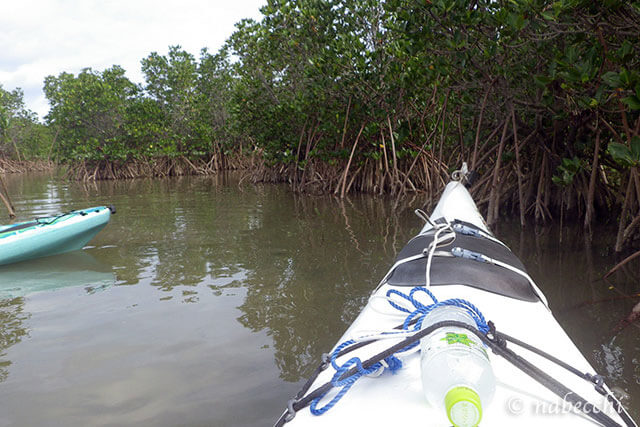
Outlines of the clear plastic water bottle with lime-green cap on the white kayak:
M455 306L434 309L422 327L446 320L476 327L471 315ZM443 327L422 338L420 350L422 389L429 403L444 410L455 427L477 426L482 408L493 398L496 383L480 338L464 328Z

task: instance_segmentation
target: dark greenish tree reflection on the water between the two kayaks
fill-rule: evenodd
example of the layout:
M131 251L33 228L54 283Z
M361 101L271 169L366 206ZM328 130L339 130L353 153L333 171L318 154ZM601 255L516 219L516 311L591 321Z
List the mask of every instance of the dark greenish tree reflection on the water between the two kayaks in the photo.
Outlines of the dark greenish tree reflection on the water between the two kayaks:
M118 245L103 251L118 284L153 286L184 303L206 290L245 288L238 321L267 331L281 377L292 382L313 370L386 272L396 243L420 225L382 199L237 191L207 179L116 187L125 185L110 197L118 215L108 231Z

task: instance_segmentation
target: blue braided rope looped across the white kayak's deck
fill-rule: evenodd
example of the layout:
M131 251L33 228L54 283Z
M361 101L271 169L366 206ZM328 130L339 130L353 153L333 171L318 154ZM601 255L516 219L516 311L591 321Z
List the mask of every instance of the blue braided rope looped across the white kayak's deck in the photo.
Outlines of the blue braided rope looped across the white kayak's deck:
M420 301L418 301L415 298L415 294L418 292L426 293L433 301L433 304L425 305ZM403 298L409 301L413 305L415 310L412 311L410 309L407 309L395 303L391 298L392 295L396 295L400 298ZM408 315L406 316L402 324L401 331L382 332L383 335L389 335L390 338L392 338L393 335L401 334L403 336L406 336L408 332L419 332L422 329L422 322L424 321L424 318L426 317L426 315L432 312L433 310L435 310L436 308L444 307L444 306L454 306L454 307L459 307L466 310L466 312L475 321L478 331L480 333L485 335L489 332L489 326L484 316L482 315L482 312L475 305L473 305L467 300L460 299L460 298L451 298L445 301L438 301L435 295L433 295L433 293L424 286L416 286L412 288L408 294L402 293L396 289L390 289L387 291L386 296L387 296L387 301L393 308L401 312L408 313ZM331 366L333 366L336 372L331 378L330 382L334 388L340 388L340 391L326 405L320 408L318 407L318 405L320 404L320 400L322 400L322 398L324 398L326 394L323 394L322 396L319 396L316 399L314 399L311 402L311 405L309 407L313 415L322 415L325 412L327 412L329 409L333 408L333 406L335 406L336 403L338 403L340 399L342 399L342 397L349 391L349 389L353 386L353 384L355 384L355 382L362 376L372 375L380 371L381 369L385 369L385 368L389 369L391 373L395 374L398 371L398 369L402 368L402 361L398 357L396 357L395 354L409 351L420 344L419 341L416 341L408 345L407 347L399 350L394 355L391 355L385 358L384 363L378 362L371 365L369 368L364 368L364 366L362 365L362 361L360 360L359 357L352 357L342 365L339 365L336 359L339 357L340 353L344 349L356 343L357 343L356 340L353 340L353 339L347 340L341 343L338 347L336 347L331 352L331 355L330 355ZM353 375L343 378L343 375L347 373L349 370L351 370L353 367L356 367L357 371Z

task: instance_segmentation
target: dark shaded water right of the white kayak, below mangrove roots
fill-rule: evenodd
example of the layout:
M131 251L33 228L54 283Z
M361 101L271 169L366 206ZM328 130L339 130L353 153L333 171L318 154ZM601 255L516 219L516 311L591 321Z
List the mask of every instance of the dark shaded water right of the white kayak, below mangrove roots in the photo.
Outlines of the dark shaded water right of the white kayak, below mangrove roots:
M640 301L640 262L603 279L619 261L613 250L615 228L599 227L592 238L579 225L562 233L557 227L523 232L515 224L499 231L540 284L574 343L609 385L630 396L628 407L640 415L640 325L636 321L620 328Z

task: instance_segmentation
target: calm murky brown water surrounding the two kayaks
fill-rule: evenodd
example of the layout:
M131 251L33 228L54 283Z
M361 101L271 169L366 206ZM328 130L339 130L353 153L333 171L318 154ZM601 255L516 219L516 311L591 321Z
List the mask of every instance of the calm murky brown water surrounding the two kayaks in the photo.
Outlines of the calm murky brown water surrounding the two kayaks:
M424 200L340 202L219 176L7 177L20 219L114 204L84 251L0 267L0 426L262 426L282 412L418 231ZM0 210L4 215L4 210ZM615 331L608 230L498 230L556 317L640 412L640 327Z

